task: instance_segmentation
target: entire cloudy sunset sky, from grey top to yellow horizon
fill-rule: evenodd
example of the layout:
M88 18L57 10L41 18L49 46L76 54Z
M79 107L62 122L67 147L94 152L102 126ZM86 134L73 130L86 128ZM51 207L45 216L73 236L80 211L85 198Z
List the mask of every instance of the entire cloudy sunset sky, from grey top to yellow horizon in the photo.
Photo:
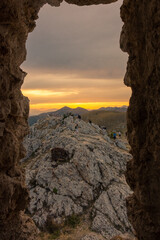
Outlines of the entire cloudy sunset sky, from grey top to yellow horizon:
M65 2L39 13L27 41L22 91L31 114L63 106L97 109L128 104L127 54L119 49L118 3L78 7Z

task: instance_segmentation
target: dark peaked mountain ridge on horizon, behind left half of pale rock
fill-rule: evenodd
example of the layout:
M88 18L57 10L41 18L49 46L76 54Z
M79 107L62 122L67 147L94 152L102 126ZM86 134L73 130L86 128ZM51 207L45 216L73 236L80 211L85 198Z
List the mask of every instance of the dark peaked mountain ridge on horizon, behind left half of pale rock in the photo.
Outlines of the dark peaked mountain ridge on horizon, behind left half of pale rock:
M57 111L54 112L47 112L47 113L41 113L39 115L35 115L35 116L30 116L29 117L29 125L32 126L34 123L36 123L39 119L43 119L45 118L47 115L49 116L56 116L56 117L61 117L64 114L68 114L68 113L72 113L74 115L83 115L88 113L88 110L81 108L81 107L77 107L77 108L69 108L69 107L63 107Z

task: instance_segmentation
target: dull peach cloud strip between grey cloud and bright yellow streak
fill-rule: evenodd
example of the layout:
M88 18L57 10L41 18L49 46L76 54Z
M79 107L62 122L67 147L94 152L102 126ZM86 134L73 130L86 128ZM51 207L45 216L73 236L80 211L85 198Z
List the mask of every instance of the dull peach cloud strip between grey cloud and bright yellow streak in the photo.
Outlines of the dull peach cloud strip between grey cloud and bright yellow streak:
M70 89L90 87L121 87L122 79L80 78L76 74L63 75L54 73L31 72L26 78L24 89Z

